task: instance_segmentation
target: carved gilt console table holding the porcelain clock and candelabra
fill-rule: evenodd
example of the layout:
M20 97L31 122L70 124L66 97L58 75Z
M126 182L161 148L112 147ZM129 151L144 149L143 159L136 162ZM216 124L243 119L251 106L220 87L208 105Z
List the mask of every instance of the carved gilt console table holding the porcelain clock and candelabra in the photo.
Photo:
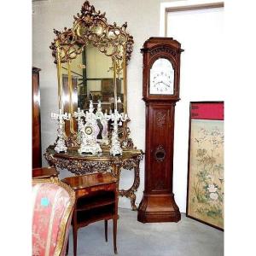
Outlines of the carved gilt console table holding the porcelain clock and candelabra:
M51 145L44 154L49 166L67 169L75 175L84 175L92 172L112 172L113 176L118 178L121 168L125 170L134 170L134 181L130 189L120 189L119 195L130 198L131 208L137 210L135 205L135 192L140 184L139 164L143 160L143 151L140 149L124 149L123 155L113 156L109 154L108 149L103 149L101 154L79 154L77 148L67 148L67 153L56 153L55 146Z

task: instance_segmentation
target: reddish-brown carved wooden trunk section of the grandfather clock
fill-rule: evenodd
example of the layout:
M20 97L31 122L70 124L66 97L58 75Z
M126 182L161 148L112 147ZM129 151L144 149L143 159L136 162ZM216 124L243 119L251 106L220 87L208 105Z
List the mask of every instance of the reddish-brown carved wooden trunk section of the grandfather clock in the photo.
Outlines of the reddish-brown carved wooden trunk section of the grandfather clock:
M151 192L172 191L173 113L172 104L151 103L148 107L148 133L151 137L147 143L147 166L148 190Z

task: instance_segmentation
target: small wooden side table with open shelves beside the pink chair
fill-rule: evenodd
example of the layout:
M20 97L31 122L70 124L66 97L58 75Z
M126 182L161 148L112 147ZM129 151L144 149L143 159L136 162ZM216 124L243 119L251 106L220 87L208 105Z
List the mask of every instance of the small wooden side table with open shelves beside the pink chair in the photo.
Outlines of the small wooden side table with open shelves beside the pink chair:
M105 239L108 241L108 219L113 219L113 249L117 253L119 179L109 172L93 173L62 179L75 191L73 211L73 255L77 255L79 228L96 221L105 221Z

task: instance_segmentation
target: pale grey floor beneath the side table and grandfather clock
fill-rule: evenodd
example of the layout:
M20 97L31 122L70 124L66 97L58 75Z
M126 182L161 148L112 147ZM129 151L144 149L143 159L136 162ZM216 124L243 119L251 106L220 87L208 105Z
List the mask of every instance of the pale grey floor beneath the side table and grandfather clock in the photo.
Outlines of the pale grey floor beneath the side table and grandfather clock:
M108 223L108 242L103 221L79 230L78 256L114 255L112 221ZM69 237L68 255L72 256L72 231ZM183 213L178 223L142 224L137 221L137 212L119 208L117 247L119 256L221 256L224 232Z

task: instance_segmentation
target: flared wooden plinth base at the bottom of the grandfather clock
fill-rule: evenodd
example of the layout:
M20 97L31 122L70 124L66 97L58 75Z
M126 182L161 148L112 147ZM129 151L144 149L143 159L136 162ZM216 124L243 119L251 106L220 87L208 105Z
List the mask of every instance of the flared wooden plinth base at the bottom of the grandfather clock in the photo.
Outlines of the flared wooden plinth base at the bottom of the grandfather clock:
M139 222L178 222L180 218L173 194L143 195L143 200L138 207Z

